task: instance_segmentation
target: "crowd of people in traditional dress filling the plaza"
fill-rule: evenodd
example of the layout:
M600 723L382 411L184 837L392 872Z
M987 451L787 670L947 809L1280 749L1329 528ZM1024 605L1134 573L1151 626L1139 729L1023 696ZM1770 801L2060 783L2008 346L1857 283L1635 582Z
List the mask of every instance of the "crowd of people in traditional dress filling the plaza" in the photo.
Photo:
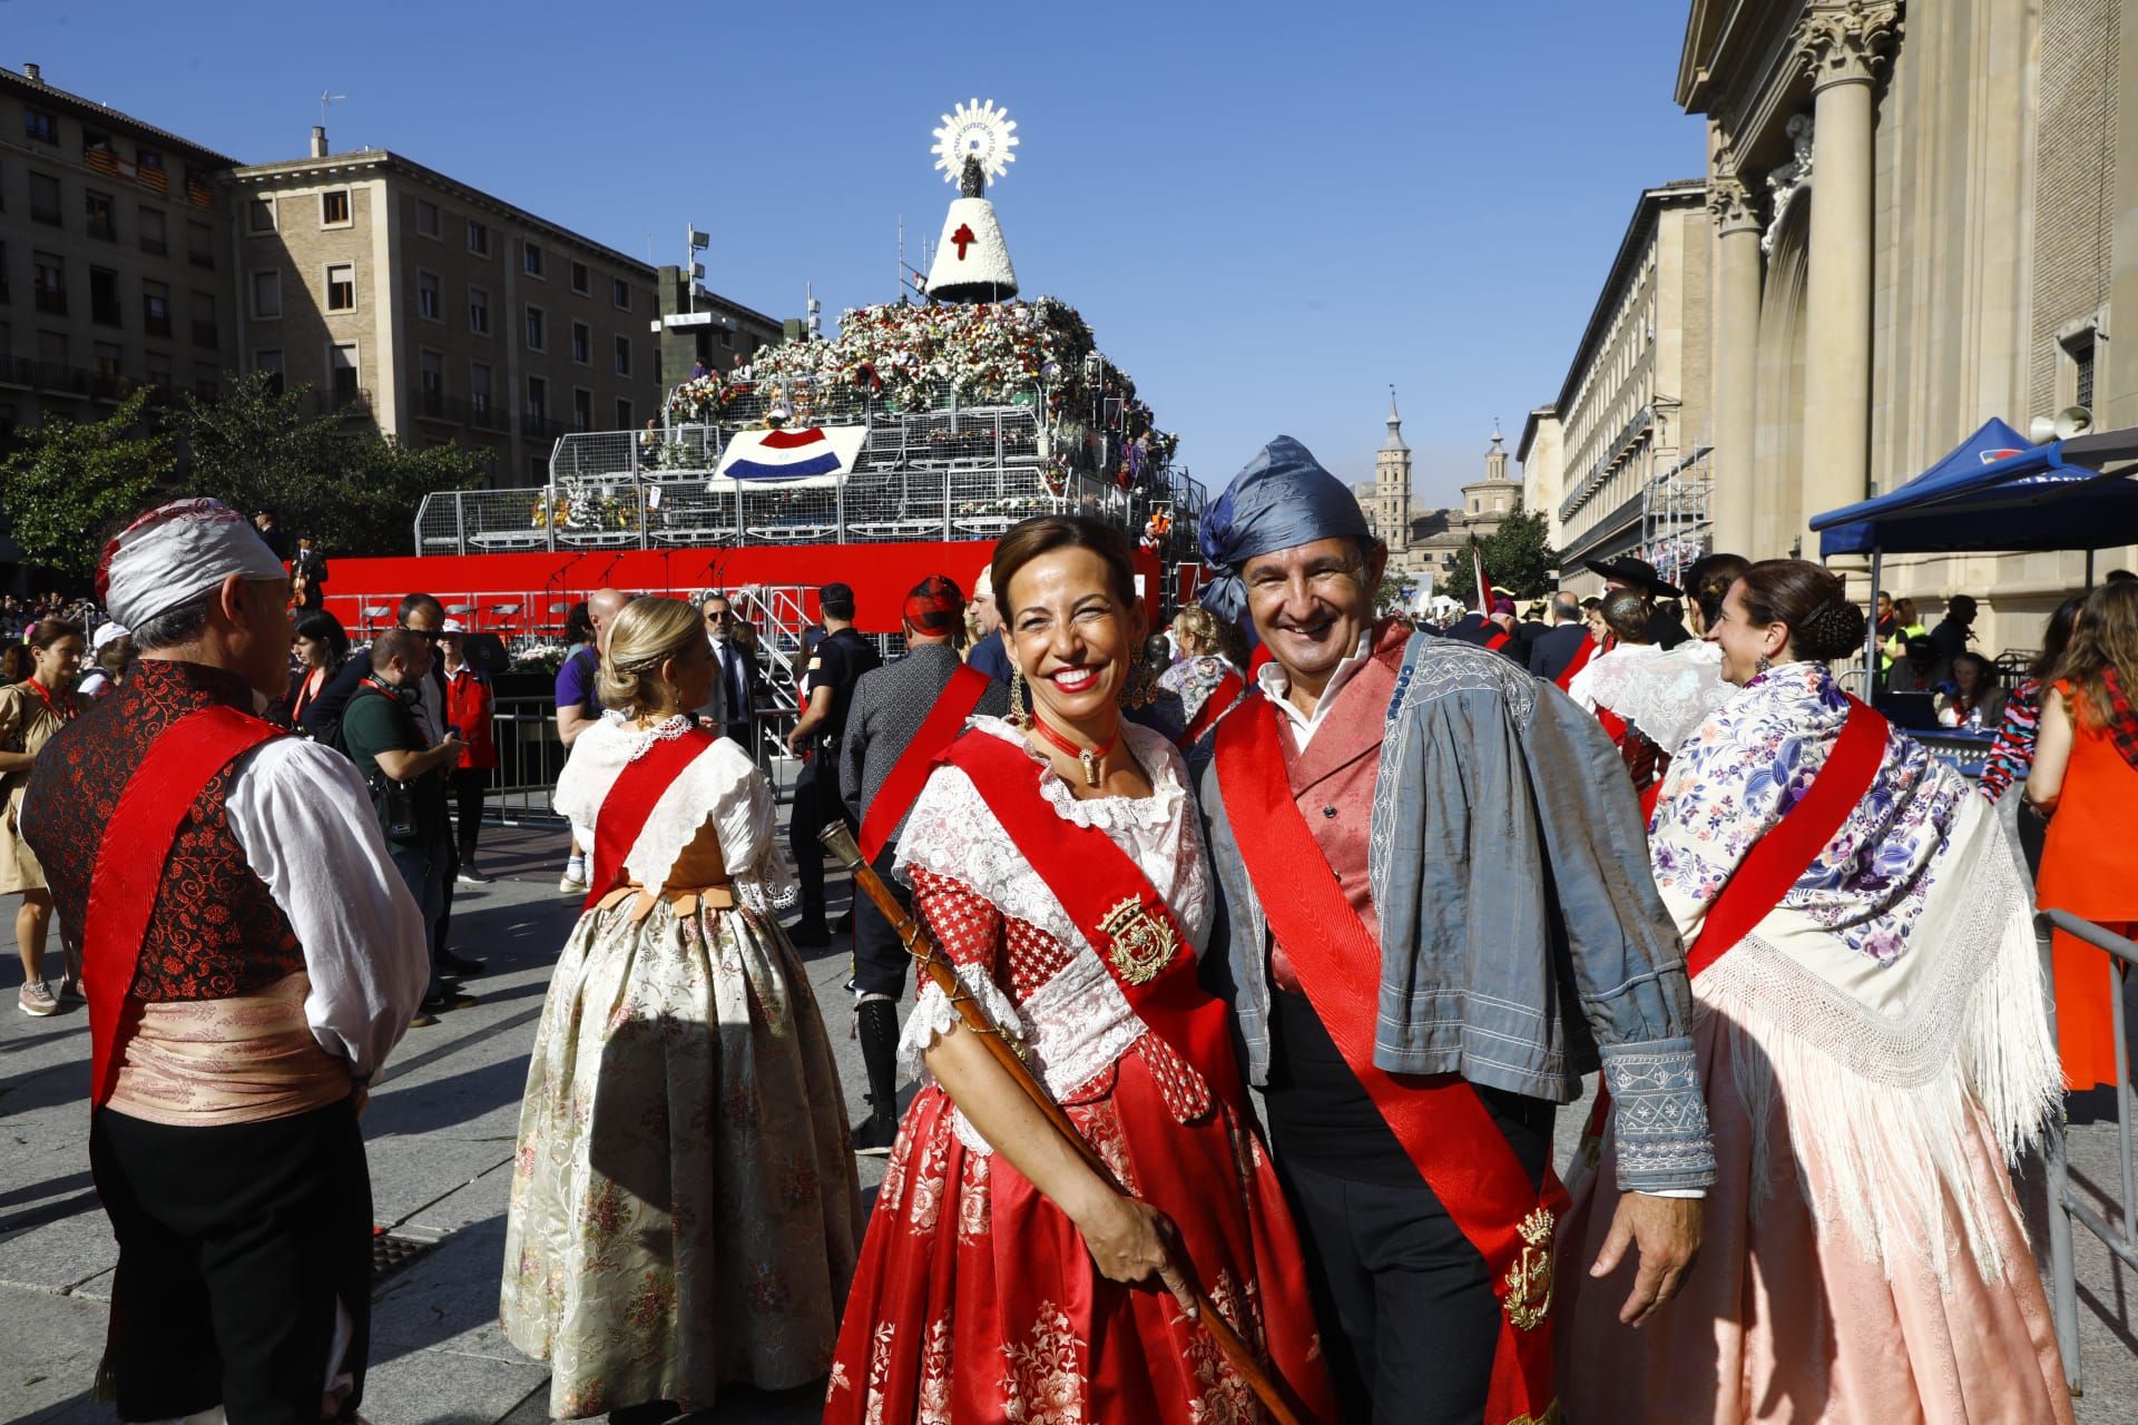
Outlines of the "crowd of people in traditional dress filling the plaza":
M1202 543L1152 628L1127 532L1028 519L904 596L887 664L821 588L785 829L735 602L573 611L582 910L500 1290L552 1416L815 1380L868 1425L2070 1421L2010 1173L2112 1079L2117 981L2070 946L2046 985L2031 910L2138 925L2138 581L2003 694L1969 600L1914 632L1800 560L1379 615L1385 549L1289 438ZM496 763L468 630L408 594L351 656L289 581L160 506L100 573L137 662L81 699L43 620L0 690L26 968L49 998L56 914L90 1002L130 1421L353 1416L357 1115L483 970L447 944ZM1832 673L1873 645L1890 716ZM1995 729L1980 786L1901 726L1922 692ZM802 961L840 934L857 1124Z

